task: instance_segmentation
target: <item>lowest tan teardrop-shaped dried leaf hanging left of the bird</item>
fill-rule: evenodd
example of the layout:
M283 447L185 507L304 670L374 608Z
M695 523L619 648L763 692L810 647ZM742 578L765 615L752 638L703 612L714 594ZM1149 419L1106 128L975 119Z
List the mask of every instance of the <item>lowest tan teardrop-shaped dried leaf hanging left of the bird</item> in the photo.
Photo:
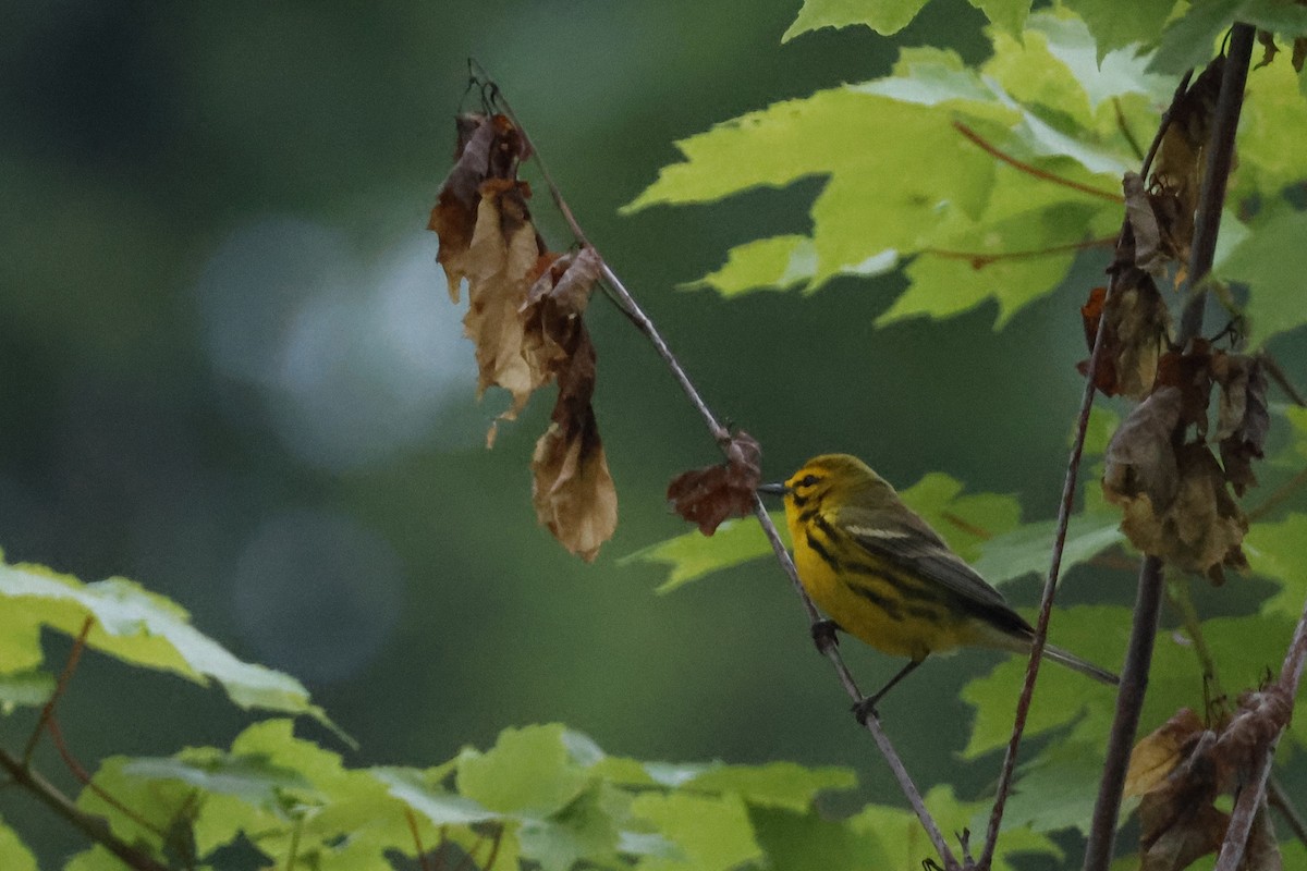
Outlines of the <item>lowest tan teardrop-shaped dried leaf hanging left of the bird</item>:
M531 458L531 498L536 516L554 538L591 562L617 529L617 490L591 406L595 346L579 320L567 351L549 430Z

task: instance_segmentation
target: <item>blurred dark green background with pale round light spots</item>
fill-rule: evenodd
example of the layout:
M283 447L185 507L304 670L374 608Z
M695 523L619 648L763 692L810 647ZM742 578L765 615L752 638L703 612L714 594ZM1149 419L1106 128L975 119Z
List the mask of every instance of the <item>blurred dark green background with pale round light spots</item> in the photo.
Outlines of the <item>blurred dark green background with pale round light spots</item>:
M676 138L887 71L894 42L863 29L780 46L797 8L7 4L8 559L174 597L243 658L305 679L361 742L352 764L433 764L503 726L558 720L640 757L848 764L869 795L898 802L775 565L656 597L659 571L618 564L685 531L665 509L667 481L716 453L652 350L601 300L596 410L620 529L587 565L536 525L528 462L550 398L503 426L493 452L481 447L503 398L473 401L461 309L423 230L452 116L476 106L460 103L472 55L708 402L761 439L769 475L850 451L901 486L948 471L1050 516L1080 401L1078 306L1100 261L1002 333L992 306L874 330L898 279L735 302L673 290L732 244L802 231L819 179L617 215L677 158ZM936 3L899 42L975 60L982 24L962 3ZM566 245L542 195L536 204ZM399 315L369 320L386 300ZM307 350L288 362L290 336ZM286 387L291 370L307 393ZM405 405L413 396L429 401ZM1029 603L1033 585L1013 594ZM68 649L48 646L55 663ZM899 665L848 654L868 686ZM884 705L924 784L992 776L992 763L959 774L954 759L968 717L957 688L991 661L932 665ZM88 767L225 746L250 721L221 691L97 656L59 716ZM5 746L30 722L0 722ZM73 789L51 752L38 761ZM0 791L0 814L47 867L82 846L14 790Z

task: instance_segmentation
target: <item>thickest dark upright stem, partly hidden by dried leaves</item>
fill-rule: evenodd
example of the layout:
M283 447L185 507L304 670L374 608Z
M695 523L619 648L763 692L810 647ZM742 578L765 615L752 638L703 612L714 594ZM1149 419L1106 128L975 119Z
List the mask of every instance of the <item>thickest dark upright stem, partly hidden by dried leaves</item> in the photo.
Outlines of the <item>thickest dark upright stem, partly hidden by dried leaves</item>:
M1221 78L1221 94L1217 98L1212 119L1212 138L1202 174L1202 191L1199 196L1197 222L1188 270L1189 300L1180 321L1178 338L1180 347L1188 345L1202 330L1202 309L1206 298L1204 279L1212 270L1212 260L1216 253L1221 212L1225 206L1226 180L1234 155L1234 137L1239 125L1248 63L1252 56L1252 40L1253 29L1249 25L1236 24L1231 30L1230 51ZM1153 641L1157 636L1162 586L1162 560L1145 556L1140 567L1138 598L1134 606L1134 623L1131 628L1125 669L1121 674L1121 691L1116 697L1116 717L1108 736L1107 761L1103 767L1103 780L1098 800L1094 804L1089 844L1085 850L1085 871L1107 871L1112 861L1116 817L1121 807L1121 787L1125 782L1131 748L1134 744L1140 712L1144 706L1148 670L1153 659Z

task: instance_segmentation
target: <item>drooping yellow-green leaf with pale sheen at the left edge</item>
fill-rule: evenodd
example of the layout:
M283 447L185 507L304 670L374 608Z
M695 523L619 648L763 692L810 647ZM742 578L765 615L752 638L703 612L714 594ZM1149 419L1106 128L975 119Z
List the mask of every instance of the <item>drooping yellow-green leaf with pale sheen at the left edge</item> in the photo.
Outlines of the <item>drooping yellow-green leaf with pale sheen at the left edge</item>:
M86 644L129 665L171 671L200 684L217 680L242 708L308 714L331 729L335 723L290 675L242 662L191 626L175 602L115 577L82 584L39 565L0 564L0 626L16 637L37 637L42 626L76 636L86 618L95 624ZM39 646L35 650L39 654ZM16 667L30 669L31 650ZM39 661L38 661L39 662ZM7 662L5 666L9 663Z

